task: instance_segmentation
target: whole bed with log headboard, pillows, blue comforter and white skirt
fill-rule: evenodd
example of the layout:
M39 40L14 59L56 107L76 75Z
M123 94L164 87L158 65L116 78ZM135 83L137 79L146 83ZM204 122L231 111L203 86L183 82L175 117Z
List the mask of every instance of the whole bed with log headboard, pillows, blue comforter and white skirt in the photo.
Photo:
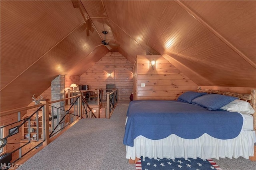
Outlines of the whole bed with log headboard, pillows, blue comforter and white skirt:
M131 101L123 140L126 158L135 163L141 156L254 156L255 102L255 90L241 94L200 87L198 92L186 92L176 101Z

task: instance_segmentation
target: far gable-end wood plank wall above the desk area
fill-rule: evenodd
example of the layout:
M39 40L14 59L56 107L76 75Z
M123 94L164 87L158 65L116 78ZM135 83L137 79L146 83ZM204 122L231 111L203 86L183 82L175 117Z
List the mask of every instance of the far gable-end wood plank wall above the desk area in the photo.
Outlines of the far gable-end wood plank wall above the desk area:
M89 89L103 89L103 100L106 99L106 84L115 84L118 99L129 99L133 90L133 64L119 52L109 52L80 76L81 85ZM111 73L111 77L108 77Z

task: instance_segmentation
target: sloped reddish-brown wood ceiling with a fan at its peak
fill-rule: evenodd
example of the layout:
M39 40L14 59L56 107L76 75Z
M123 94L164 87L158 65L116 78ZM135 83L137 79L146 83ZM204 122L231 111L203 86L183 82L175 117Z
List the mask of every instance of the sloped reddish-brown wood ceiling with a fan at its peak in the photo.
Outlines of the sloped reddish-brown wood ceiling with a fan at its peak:
M108 51L132 63L163 55L198 85L256 87L256 1L0 3L1 111L28 105L59 74L82 75ZM120 46L102 45L102 31Z

